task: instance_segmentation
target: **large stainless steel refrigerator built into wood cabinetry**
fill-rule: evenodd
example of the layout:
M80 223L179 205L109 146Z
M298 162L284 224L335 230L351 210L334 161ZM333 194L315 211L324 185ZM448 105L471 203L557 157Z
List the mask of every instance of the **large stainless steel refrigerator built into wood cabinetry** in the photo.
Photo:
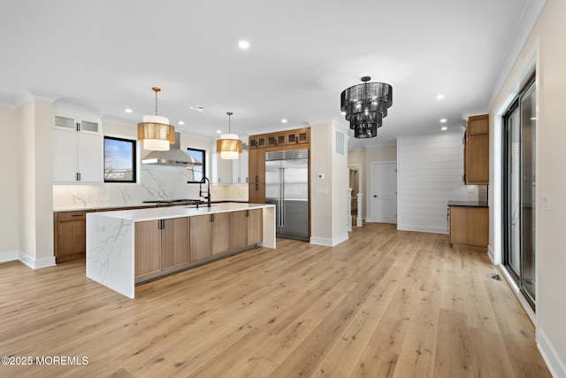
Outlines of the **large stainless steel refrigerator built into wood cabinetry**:
M309 150L265 153L265 202L275 204L278 237L309 241Z

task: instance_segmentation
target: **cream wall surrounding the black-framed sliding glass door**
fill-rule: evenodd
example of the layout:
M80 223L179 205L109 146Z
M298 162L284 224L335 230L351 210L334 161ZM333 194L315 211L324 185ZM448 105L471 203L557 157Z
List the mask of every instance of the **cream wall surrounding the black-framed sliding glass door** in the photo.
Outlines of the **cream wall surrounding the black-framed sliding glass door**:
M536 334L539 350L556 377L566 377L566 156L564 99L566 98L566 2L548 0L532 33L509 73L490 118L490 246L501 257L501 113L509 97L530 70L537 69L537 206L536 206ZM542 194L551 196L551 209L542 209Z

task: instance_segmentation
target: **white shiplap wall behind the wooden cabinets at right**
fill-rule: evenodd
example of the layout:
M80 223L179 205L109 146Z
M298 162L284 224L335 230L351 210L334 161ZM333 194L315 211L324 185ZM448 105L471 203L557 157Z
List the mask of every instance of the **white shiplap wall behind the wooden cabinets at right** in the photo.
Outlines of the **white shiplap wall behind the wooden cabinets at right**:
M397 228L447 233L447 201L477 201L463 185L463 133L397 139ZM471 191L471 192L470 192Z

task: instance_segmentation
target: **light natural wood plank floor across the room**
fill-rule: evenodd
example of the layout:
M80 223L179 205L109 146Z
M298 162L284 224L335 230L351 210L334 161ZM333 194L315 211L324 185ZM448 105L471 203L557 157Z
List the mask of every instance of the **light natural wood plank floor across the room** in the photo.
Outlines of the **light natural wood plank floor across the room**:
M0 376L546 377L534 328L485 253L446 235L355 228L328 248L278 240L136 288L84 261L0 264Z

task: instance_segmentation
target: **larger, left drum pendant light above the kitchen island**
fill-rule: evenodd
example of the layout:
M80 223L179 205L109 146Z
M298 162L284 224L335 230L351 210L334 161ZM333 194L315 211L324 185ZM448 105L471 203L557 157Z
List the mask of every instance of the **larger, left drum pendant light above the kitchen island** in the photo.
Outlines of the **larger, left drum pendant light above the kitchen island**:
M143 141L144 150L169 150L175 143L175 127L169 125L169 119L157 115L157 93L160 88L153 87L156 92L156 115L144 115L143 122L138 123L138 141Z

